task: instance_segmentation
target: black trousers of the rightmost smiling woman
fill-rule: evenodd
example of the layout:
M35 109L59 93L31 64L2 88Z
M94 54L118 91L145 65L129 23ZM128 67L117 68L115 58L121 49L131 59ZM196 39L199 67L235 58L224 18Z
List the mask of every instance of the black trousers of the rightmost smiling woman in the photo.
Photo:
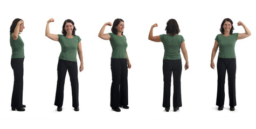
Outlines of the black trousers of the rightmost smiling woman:
M236 58L218 58L217 71L218 71L218 89L217 89L217 106L224 105L225 99L225 76L227 71L228 81L229 81L229 98L230 106L236 106Z

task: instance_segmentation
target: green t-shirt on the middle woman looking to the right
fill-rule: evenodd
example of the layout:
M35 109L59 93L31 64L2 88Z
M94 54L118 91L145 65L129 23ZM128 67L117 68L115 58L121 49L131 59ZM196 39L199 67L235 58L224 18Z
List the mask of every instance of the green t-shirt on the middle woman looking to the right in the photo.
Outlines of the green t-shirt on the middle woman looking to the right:
M112 56L111 58L127 59L126 55L126 36L120 37L117 34L108 33L110 35L110 44L112 46Z

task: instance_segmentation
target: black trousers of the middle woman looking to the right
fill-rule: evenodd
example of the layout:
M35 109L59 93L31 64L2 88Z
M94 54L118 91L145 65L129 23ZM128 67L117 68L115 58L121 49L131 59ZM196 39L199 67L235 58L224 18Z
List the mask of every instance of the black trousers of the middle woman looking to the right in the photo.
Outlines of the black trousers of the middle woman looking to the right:
M111 59L112 85L110 106L128 105L127 59Z

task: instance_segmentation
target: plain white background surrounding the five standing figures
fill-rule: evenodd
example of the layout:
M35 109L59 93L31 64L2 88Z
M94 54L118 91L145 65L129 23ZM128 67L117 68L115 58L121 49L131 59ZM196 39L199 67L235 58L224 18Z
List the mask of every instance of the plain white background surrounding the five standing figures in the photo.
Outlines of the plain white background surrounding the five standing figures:
M253 1L5 1L1 3L0 128L253 128L255 127L255 4ZM10 65L10 26L15 18L24 20L20 34L24 41L25 112L11 111L13 70ZM72 19L82 39L84 71L79 73L80 111L72 107L71 85L66 75L63 111L57 112L54 98L57 84L59 42L45 37L46 21L50 32L61 34L64 20ZM127 52L129 106L114 112L110 105L112 82L109 41L98 33L114 19L124 20ZM164 34L169 19L179 24L189 56L189 69L182 71L182 104L177 112L162 107L164 49L161 42L148 40L151 25L154 35ZM218 111L217 70L210 68L211 52L224 18L231 18L234 33L244 33L243 21L252 35L236 43L237 106L229 110L227 92L223 111ZM107 26L105 33L110 32ZM217 66L217 56L215 64ZM182 56L184 67L184 58ZM78 66L80 61L78 60ZM171 92L172 90L171 85ZM172 104L172 94L171 94ZM253 120L254 119L254 120Z

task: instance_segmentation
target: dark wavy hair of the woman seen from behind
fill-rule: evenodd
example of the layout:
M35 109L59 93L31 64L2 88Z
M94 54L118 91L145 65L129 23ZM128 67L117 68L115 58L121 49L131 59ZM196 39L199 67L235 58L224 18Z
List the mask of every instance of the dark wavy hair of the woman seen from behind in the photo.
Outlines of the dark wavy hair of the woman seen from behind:
M180 32L179 25L175 19L168 20L166 24L165 31L167 34L175 35Z

